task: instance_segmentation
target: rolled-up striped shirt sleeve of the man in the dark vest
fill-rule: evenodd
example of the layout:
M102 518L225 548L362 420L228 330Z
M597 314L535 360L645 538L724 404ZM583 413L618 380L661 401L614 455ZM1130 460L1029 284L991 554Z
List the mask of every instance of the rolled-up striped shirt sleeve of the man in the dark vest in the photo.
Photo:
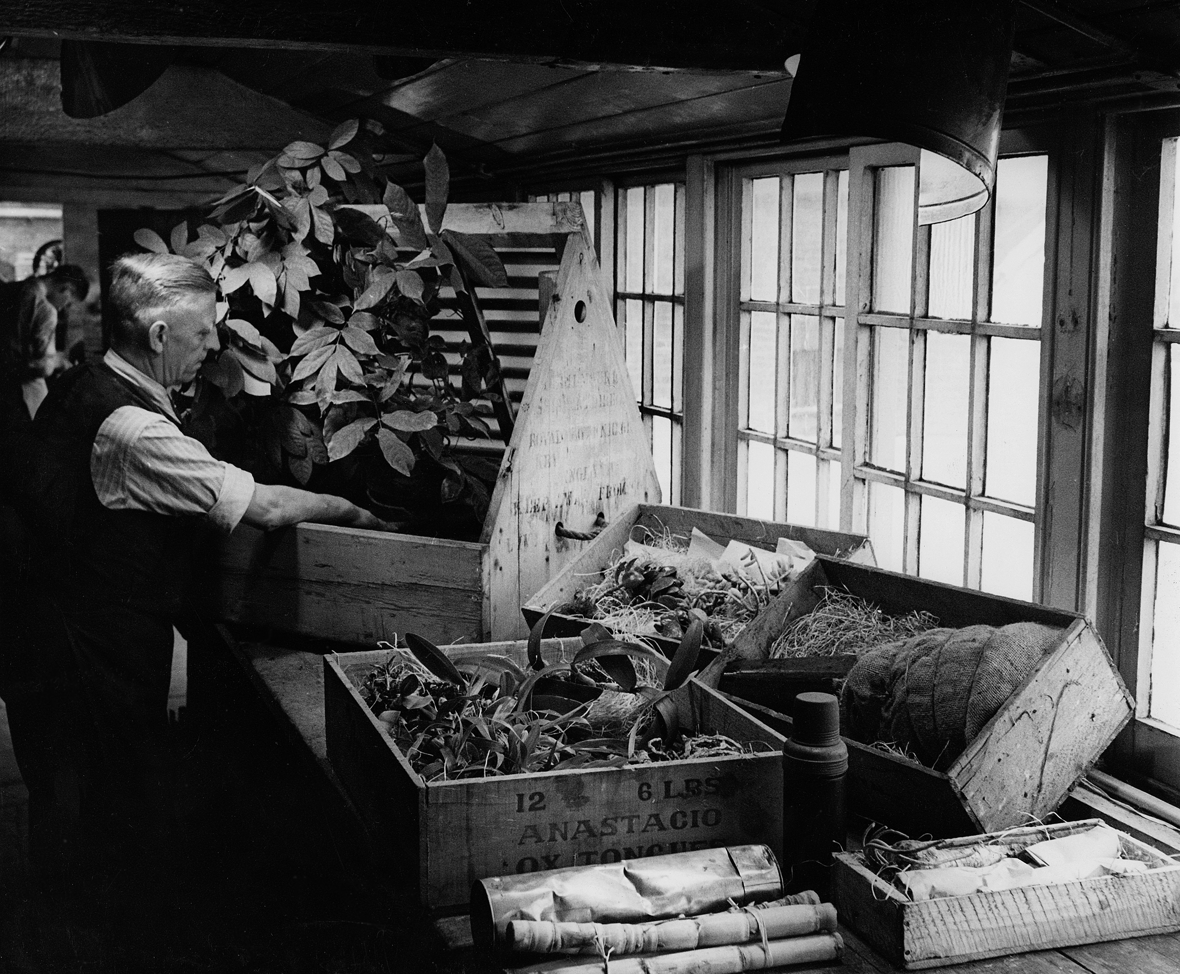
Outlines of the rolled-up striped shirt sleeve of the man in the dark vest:
M216 460L199 440L137 406L119 407L99 427L90 475L106 508L204 515L227 533L254 496L249 473Z

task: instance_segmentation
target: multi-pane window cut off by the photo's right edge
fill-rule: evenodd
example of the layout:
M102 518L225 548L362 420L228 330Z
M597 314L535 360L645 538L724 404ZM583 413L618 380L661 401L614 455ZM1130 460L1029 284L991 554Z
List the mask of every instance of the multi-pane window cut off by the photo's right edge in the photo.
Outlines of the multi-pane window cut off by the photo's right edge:
M1180 733L1180 180L1163 142L1155 275L1147 526L1140 610L1139 716Z

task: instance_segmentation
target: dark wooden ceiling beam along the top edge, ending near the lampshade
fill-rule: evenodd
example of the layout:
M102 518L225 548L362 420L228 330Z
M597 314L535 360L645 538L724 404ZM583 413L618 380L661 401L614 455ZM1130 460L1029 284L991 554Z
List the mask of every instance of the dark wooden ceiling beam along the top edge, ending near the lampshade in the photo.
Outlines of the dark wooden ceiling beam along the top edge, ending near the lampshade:
M22 0L5 6L0 35L766 74L784 73L786 58L798 53L814 0L796 0L798 15L758 0L722 7L715 0L281 6L274 0Z

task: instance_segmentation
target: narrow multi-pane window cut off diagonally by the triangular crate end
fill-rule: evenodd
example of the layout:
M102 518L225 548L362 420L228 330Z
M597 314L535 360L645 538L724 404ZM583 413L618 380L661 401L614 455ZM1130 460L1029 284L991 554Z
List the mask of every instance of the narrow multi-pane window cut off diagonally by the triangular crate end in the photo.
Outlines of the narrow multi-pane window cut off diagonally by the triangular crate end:
M684 403L684 187L629 186L615 202L615 317L667 504L680 504Z

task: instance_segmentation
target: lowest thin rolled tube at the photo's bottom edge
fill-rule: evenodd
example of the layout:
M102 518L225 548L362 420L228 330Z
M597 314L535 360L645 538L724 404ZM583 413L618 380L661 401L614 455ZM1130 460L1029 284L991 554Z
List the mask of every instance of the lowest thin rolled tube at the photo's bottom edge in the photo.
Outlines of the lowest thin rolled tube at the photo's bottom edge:
M788 963L834 961L843 950L839 934L814 934L772 940L765 948L761 943L742 943L656 956L611 957L610 974L741 974ZM602 974L602 957L562 957L519 967L514 974Z

